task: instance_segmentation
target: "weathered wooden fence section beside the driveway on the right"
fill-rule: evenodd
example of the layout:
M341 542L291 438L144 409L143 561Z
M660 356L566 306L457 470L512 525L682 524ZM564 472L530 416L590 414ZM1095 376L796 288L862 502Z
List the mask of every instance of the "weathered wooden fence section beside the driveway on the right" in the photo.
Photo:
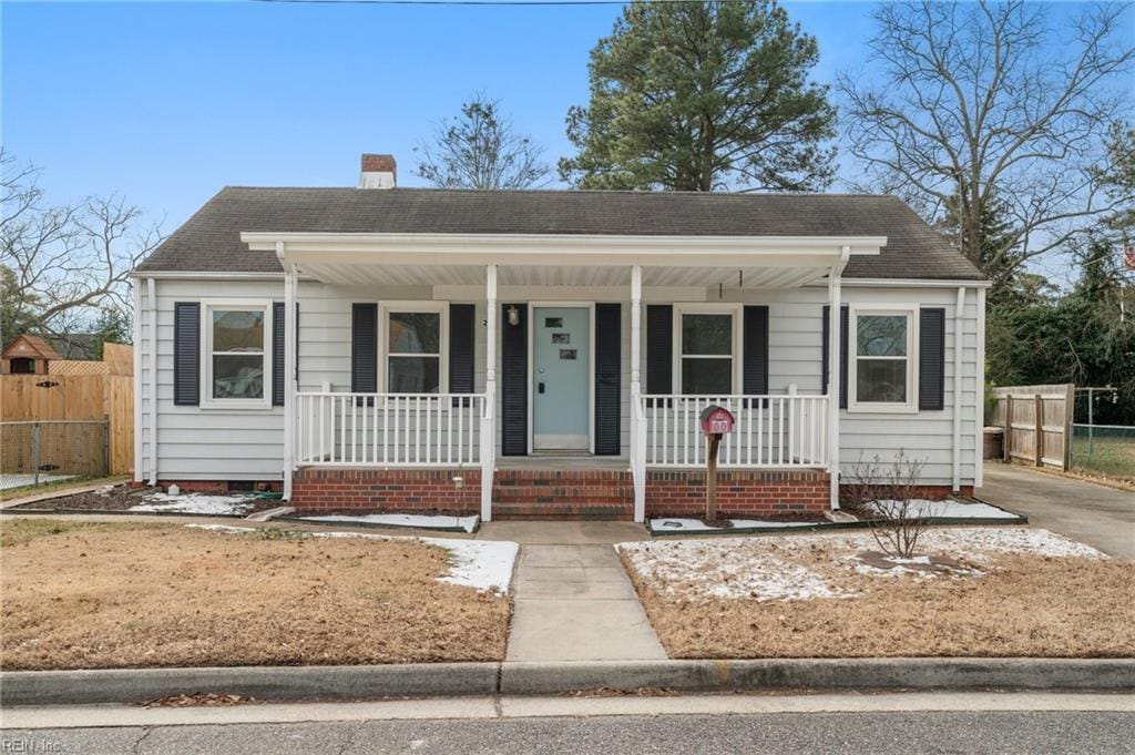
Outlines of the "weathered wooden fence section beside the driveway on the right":
M1017 385L990 389L993 425L1004 430L1004 460L1068 469L1076 386Z

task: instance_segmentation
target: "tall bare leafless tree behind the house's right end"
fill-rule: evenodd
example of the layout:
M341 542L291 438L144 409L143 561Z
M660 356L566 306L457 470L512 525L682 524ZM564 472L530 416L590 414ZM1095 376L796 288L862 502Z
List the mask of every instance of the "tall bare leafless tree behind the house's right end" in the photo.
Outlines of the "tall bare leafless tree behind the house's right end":
M1130 106L1125 8L1085 6L1062 35L1048 14L1019 0L881 3L869 41L878 75L839 83L860 183L953 225L995 283L1135 200L1104 191L1092 169ZM1008 232L991 245L994 204Z

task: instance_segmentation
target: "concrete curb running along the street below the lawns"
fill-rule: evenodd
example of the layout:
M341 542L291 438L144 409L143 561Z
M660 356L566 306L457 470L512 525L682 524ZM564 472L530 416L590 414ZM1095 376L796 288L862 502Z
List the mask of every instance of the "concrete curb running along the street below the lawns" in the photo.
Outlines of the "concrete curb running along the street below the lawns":
M1130 691L1135 690L1135 658L763 658L6 671L0 672L0 703L143 703L167 695L208 691L261 701L560 695L600 687L687 693Z

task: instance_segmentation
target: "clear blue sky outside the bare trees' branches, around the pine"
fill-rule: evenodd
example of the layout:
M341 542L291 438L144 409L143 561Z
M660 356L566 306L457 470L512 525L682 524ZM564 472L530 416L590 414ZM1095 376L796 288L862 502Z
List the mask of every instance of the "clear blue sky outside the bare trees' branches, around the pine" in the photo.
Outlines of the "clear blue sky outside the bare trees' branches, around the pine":
M861 56L869 3L788 3L830 81ZM220 186L351 185L359 154L413 146L479 90L554 162L568 107L621 8L12 3L3 144L56 201L121 192L173 230Z

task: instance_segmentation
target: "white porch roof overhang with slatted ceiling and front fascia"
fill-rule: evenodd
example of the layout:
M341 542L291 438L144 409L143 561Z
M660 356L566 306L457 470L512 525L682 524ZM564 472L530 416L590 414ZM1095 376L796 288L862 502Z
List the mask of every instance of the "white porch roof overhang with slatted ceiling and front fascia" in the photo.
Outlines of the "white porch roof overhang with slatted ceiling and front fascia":
M254 250L337 284L478 285L487 266L504 285L793 287L851 254L878 254L885 237L520 236L244 233Z

